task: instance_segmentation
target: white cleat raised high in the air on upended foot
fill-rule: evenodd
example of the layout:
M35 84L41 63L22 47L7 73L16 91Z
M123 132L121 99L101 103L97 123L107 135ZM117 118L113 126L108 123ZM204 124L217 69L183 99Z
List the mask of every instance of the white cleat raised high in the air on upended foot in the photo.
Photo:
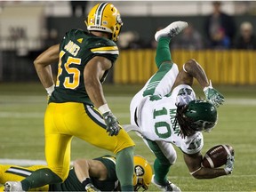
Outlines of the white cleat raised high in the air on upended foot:
M166 28L163 28L156 32L155 39L158 42L161 36L177 36L184 28L188 27L188 22L185 21L175 21L172 22Z

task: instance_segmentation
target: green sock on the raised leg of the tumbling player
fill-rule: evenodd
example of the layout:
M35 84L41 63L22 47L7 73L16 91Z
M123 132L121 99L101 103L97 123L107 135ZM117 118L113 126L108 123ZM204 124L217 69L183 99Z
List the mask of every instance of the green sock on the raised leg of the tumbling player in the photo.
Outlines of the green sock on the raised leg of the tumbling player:
M166 62L166 61L172 62L171 51L169 47L170 41L171 41L170 37L161 37L158 40L158 44L156 47L156 57L155 57L157 68L160 68L160 65L163 62Z

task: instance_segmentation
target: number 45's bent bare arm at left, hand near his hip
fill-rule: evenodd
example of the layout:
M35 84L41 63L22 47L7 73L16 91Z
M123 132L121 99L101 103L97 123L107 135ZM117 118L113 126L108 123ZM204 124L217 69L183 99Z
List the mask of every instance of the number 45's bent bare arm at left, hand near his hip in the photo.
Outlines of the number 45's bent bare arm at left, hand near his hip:
M51 64L58 63L59 50L60 44L52 45L34 60L36 73L49 95L51 95L54 90Z

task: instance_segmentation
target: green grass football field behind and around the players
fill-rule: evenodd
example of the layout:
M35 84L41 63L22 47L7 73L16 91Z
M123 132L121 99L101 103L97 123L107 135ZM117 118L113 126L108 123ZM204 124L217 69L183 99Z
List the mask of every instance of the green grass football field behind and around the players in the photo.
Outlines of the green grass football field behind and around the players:
M225 95L220 106L219 123L204 133L203 153L217 144L235 148L236 163L232 175L213 180L196 180L188 172L178 148L178 159L169 179L182 191L256 191L256 88L255 86L216 86ZM108 105L122 124L129 124L129 102L140 85L104 85ZM197 97L204 97L196 87ZM46 94L41 84L0 84L0 159L44 160L44 109ZM154 156L134 133L135 154L150 164ZM72 141L72 160L108 154L83 140ZM150 185L150 191L157 189Z

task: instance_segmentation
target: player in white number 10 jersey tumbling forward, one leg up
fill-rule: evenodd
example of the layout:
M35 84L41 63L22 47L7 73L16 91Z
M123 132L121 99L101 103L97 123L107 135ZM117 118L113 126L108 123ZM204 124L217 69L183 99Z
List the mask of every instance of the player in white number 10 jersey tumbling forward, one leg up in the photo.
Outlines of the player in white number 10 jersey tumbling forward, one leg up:
M172 62L170 41L187 26L187 22L176 21L156 32L158 70L132 98L132 125L124 126L127 132L139 132L155 154L152 183L164 191L180 191L167 179L169 169L177 158L172 144L181 149L188 170L196 179L228 175L234 167L234 156L228 157L225 168L201 166L202 132L210 132L217 123L216 108L224 102L224 97L212 87L196 60L188 60L180 72ZM194 78L203 87L206 100L196 100L191 87Z

